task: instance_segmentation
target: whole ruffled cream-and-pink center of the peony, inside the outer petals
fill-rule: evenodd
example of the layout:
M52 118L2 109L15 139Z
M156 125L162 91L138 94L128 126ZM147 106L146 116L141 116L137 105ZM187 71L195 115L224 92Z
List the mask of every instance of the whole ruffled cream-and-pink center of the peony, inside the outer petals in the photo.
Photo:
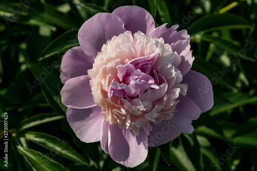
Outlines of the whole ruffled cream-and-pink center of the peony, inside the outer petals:
M102 46L88 70L95 103L104 119L138 135L171 119L179 94L186 95L177 69L180 57L162 38L126 31Z

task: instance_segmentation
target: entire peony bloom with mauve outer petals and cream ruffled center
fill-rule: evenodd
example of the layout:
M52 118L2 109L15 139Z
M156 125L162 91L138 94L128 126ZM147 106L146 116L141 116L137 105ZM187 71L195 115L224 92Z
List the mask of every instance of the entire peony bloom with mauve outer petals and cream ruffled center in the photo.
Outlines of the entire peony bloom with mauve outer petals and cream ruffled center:
M80 46L63 56L60 76L67 120L81 141L101 141L114 161L135 167L148 146L193 131L213 92L205 75L190 70L190 37L177 28L155 28L137 6L98 13L81 26Z

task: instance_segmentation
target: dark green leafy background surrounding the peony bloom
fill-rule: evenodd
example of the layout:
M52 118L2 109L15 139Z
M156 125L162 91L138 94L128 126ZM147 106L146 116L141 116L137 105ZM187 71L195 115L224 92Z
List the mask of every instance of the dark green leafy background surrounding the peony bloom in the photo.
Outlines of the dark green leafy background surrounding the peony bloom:
M81 142L60 97L62 56L79 45L80 26L125 5L148 10L156 27L187 29L192 69L214 91L214 106L193 122L193 134L150 148L135 168L114 162L99 142ZM0 169L257 170L256 10L256 0L1 0L0 138L9 144L8 167L1 156Z

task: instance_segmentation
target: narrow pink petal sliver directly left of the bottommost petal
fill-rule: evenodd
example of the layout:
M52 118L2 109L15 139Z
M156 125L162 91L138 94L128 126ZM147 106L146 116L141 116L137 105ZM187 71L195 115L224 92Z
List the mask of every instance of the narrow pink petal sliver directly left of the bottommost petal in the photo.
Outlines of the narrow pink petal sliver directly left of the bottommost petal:
M106 122L104 119L101 124L101 147L106 154L109 154L109 147L108 147L108 128L109 123Z

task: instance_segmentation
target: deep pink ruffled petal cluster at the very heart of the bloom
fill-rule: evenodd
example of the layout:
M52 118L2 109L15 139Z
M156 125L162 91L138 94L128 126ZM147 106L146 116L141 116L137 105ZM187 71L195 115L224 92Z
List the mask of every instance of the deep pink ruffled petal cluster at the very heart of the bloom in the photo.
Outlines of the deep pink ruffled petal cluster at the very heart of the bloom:
M155 91L159 88L158 85L167 83L157 70L151 68L153 59L152 54L136 58L125 65L118 65L116 68L119 80L112 80L108 87L108 98L112 100L116 96L131 102L146 90Z

